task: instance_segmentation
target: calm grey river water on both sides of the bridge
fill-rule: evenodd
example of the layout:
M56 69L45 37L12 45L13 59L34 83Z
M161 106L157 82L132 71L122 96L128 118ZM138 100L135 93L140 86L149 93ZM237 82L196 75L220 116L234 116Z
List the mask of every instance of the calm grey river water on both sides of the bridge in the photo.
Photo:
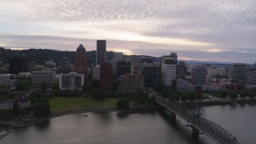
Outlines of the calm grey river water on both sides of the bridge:
M256 142L256 105L205 106L205 117L221 125L238 141ZM88 115L85 117L84 115ZM136 114L98 112L70 114L48 122L17 128L0 140L4 144L62 143L214 143L206 135L191 135L191 128L177 116L173 120L164 111Z

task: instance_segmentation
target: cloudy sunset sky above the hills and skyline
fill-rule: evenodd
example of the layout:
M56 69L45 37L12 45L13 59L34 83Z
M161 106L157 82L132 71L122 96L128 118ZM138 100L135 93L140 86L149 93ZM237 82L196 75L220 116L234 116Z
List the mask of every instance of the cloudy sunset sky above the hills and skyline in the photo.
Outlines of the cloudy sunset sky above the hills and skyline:
M256 62L255 0L0 0L0 46Z

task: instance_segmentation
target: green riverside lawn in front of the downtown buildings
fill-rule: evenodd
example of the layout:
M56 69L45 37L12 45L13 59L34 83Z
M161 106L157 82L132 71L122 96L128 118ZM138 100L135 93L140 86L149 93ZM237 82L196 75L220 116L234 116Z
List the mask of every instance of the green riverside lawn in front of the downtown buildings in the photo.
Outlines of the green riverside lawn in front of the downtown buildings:
M98 101L94 98L54 97L49 99L50 110L53 113L62 110L115 107L117 102L118 98L106 98L103 101Z

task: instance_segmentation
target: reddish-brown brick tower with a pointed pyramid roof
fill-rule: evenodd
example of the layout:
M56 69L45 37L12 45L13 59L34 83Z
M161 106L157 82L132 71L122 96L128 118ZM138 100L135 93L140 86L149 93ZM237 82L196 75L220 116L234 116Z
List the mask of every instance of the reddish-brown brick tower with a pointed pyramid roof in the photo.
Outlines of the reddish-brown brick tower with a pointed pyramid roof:
M84 74L85 83L87 79L87 60L86 49L82 46L78 46L76 57L74 60L74 71L78 74Z

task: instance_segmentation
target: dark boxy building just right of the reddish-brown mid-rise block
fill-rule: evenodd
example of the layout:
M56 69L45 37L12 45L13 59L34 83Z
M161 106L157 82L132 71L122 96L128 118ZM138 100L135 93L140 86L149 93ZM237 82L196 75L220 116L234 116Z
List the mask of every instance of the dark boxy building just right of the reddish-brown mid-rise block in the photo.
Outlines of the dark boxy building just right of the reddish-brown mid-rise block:
M131 62L121 60L117 62L117 77L120 78L125 74L131 74Z

